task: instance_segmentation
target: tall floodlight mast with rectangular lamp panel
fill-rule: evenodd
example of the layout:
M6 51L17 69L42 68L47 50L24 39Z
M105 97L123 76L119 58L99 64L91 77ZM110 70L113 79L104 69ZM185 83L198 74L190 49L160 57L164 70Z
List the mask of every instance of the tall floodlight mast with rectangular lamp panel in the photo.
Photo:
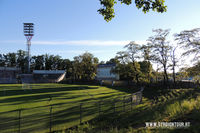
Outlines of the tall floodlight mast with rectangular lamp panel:
M31 39L34 36L33 23L24 23L24 36L27 40L27 71L30 73L30 47L31 47Z

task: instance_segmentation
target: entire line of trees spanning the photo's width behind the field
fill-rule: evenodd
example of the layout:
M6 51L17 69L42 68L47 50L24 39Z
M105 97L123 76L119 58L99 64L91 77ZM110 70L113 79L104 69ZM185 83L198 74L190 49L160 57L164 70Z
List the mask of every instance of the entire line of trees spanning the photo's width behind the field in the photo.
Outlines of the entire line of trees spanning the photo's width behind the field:
M88 52L75 56L73 60L44 54L31 57L31 70L66 70L67 78L89 81L95 78L98 64L115 63L116 68L112 70L113 73L119 74L121 80L136 83L162 80L166 84L169 80L175 83L179 77L198 77L200 29L174 34L174 40L168 39L169 29L156 29L153 33L154 35L144 44L132 41L125 45L123 51L117 52L115 58L107 62L99 62L97 57ZM181 60L192 55L194 55L192 63L196 64L176 72L183 63ZM152 64L157 68L153 69ZM23 73L26 73L26 52L18 50L16 53L0 54L0 66L19 67Z

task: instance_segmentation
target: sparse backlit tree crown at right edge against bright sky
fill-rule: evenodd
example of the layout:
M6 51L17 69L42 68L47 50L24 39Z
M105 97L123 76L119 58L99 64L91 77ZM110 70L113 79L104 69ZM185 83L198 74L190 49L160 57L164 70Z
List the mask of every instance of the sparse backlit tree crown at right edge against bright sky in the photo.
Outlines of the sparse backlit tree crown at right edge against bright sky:
M185 49L183 56L194 55L193 61L198 61L200 57L200 28L184 30L175 34L175 40Z

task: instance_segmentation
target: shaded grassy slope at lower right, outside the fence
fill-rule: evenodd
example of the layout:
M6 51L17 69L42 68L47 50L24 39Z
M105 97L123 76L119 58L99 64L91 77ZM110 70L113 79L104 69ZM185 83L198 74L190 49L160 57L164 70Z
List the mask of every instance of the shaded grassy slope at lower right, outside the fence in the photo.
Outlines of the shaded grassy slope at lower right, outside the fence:
M76 129L66 132L200 132L200 90L176 89L144 91L143 104L133 111L104 115ZM189 128L159 129L144 128L145 122L190 122Z

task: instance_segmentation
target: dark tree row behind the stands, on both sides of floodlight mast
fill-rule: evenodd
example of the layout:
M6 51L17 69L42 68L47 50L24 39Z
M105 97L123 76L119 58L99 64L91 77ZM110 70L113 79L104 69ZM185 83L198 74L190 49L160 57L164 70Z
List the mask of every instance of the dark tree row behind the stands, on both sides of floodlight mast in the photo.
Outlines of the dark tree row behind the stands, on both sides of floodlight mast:
M26 51L18 50L17 53L0 54L0 66L19 67L22 73L27 72ZM63 70L70 66L71 61L56 55L38 55L30 59L31 70Z

